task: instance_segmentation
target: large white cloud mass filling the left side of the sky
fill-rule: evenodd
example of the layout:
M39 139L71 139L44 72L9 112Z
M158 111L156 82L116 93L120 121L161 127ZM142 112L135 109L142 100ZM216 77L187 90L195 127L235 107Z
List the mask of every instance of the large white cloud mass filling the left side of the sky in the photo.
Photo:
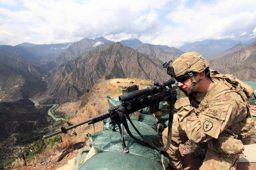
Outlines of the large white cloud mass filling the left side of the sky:
M10 37L10 44L23 42L22 37L34 43L77 41L84 37L140 35L157 27L155 8L161 8L167 1L24 1L24 10L0 9L5 20L6 31L21 28L16 37ZM154 8L151 10L151 8ZM143 13L144 21L135 22ZM2 36L2 35L0 35ZM31 38L29 38L31 37ZM35 40L35 37L42 37Z

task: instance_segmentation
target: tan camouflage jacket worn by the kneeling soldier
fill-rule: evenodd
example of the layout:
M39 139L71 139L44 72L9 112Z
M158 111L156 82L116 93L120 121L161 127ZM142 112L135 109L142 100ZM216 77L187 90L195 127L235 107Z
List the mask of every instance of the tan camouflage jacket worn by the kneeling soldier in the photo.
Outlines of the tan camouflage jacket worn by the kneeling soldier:
M250 139L255 135L250 108L237 89L225 80L212 80L215 84L209 91L194 92L176 101L180 127L196 143L208 142L208 147L221 147L231 140L233 146L240 147L234 152L242 152L243 144L255 143ZM220 147L217 150L221 150Z

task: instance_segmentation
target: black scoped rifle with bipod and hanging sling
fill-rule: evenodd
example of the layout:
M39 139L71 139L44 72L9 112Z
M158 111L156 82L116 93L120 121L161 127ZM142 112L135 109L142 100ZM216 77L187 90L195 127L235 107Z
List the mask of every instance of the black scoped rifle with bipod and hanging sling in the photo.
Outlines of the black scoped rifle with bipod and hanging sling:
M127 133L131 136L131 138L135 139L138 143L142 145L146 145L151 148L155 148L159 151L166 151L170 147L171 143L171 126L172 126L172 119L173 119L173 112L174 112L174 103L176 101L176 89L172 88L172 84L175 83L174 79L166 80L165 82L158 83L154 82L150 87L144 88L143 90L136 90L133 92L129 92L127 94L119 96L119 101L121 105L116 107L110 108L108 112L100 114L99 116L90 118L89 120L80 122L79 124L75 124L72 126L61 127L60 130L54 131L52 133L46 134L43 136L44 139L53 137L54 135L60 133L67 133L69 129L76 128L77 126L83 124L94 124L99 121L103 121L106 118L110 118L110 124L115 125L117 124L119 127L119 131L122 138L122 148L125 152L127 152L127 148L125 145L125 141L123 139L123 129L121 129L121 124L125 127ZM141 133L139 133L138 129L134 126L133 122L130 120L129 114L135 111L139 111L145 107L152 106L160 101L169 101L170 102L170 115L169 115L169 125L168 125L168 142L165 148L159 148L155 146L153 143L147 141L146 138L143 137ZM144 141L141 141L138 138L135 138L133 134L131 134L129 127L126 122L129 120L135 131L142 137Z

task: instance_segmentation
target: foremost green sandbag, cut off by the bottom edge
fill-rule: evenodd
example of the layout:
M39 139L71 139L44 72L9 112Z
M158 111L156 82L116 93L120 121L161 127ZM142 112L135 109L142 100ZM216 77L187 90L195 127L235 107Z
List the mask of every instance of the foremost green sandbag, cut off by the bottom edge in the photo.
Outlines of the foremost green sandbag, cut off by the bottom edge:
M127 169L163 169L152 159L123 152L101 152L87 160L79 170L127 170Z

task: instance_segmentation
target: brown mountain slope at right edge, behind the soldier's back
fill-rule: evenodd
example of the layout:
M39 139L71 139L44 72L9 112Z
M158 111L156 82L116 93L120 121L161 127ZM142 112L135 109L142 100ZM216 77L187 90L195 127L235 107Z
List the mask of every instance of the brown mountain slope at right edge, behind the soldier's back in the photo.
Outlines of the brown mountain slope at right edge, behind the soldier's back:
M232 74L242 81L256 81L256 41L225 57L210 59L211 69Z

